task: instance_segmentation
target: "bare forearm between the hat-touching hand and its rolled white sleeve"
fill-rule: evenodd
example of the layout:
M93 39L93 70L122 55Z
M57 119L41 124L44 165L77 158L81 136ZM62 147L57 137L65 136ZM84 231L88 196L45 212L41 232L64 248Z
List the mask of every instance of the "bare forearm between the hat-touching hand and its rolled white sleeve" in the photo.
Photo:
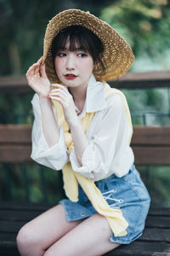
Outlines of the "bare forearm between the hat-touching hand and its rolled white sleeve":
M59 128L54 117L52 102L48 97L39 96L39 102L42 112L42 131L51 148L59 141Z

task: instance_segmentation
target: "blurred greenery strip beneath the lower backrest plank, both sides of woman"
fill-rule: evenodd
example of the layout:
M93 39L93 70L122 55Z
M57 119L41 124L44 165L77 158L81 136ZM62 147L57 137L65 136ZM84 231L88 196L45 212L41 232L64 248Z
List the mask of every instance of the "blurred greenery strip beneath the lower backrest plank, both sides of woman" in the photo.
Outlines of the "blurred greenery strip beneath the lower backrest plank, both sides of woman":
M169 166L137 166L137 169L149 190L152 205L170 207ZM0 183L0 200L3 201L57 203L65 197L61 173L33 162L1 164Z

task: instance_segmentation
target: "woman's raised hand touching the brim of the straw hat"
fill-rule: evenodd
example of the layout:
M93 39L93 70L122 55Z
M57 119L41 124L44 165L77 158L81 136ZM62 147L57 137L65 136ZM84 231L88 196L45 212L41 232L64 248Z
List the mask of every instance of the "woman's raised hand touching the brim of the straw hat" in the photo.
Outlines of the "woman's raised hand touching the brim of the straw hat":
M48 97L50 82L45 72L45 64L40 68L41 63L42 57L28 69L26 79L31 88L37 92L38 96Z

